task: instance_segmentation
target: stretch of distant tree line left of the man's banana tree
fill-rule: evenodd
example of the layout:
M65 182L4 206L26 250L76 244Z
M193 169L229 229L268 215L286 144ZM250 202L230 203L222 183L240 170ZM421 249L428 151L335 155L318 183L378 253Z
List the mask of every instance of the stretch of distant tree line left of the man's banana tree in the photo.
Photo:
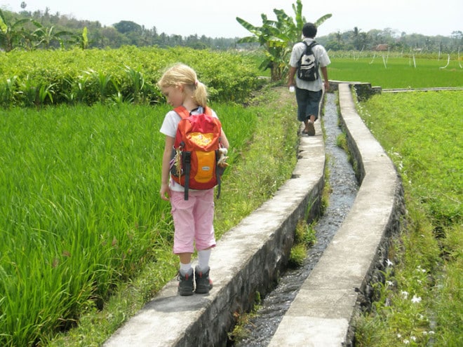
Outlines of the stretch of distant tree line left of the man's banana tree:
M210 38L197 34L182 36L159 33L135 22L121 20L112 26L98 21L76 20L68 15L45 11L14 13L0 10L0 49L34 50L41 48L120 48L122 46L159 46L204 49L236 47L238 38Z

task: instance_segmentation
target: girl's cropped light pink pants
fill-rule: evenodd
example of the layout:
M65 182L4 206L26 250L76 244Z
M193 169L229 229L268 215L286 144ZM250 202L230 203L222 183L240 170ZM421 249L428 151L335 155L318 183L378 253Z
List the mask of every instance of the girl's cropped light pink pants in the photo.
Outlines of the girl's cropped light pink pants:
M173 252L193 253L215 246L214 236L214 189L189 191L184 200L182 191L170 191L170 205L174 221Z

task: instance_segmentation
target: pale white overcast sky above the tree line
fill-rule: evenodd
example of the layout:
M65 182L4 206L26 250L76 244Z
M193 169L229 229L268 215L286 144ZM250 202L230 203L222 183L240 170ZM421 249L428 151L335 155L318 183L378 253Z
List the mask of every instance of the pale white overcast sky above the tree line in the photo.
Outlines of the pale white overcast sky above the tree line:
M295 17L296 0L0 0L0 8L20 12L25 2L26 11L60 13L78 20L98 20L111 26L130 20L147 29L156 27L158 34L234 38L249 36L236 17L256 27L262 26L261 14L276 20L274 8ZM361 32L370 29L392 29L400 35L423 34L450 36L463 32L462 0L302 0L302 15L314 22L332 14L320 27L317 36L333 32L347 32L357 27Z

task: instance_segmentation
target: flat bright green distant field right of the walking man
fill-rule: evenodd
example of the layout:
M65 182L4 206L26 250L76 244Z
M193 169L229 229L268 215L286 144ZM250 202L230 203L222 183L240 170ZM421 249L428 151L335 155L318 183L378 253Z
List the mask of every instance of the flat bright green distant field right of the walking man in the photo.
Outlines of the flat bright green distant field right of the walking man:
M382 88L463 87L463 62L447 58L413 57L331 57L330 80L369 82Z

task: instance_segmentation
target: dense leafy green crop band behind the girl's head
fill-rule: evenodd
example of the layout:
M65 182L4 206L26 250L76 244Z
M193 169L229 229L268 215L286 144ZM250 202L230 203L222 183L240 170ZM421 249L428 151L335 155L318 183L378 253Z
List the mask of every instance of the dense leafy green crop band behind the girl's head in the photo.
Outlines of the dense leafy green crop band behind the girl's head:
M161 102L156 81L164 67L179 61L196 69L212 101L245 102L263 83L257 79L258 69L250 55L189 48L13 51L1 59L0 81L6 81L0 92L3 107L68 102L91 105L108 102L113 96L124 102ZM45 99L32 97L32 90L39 93L41 89Z

